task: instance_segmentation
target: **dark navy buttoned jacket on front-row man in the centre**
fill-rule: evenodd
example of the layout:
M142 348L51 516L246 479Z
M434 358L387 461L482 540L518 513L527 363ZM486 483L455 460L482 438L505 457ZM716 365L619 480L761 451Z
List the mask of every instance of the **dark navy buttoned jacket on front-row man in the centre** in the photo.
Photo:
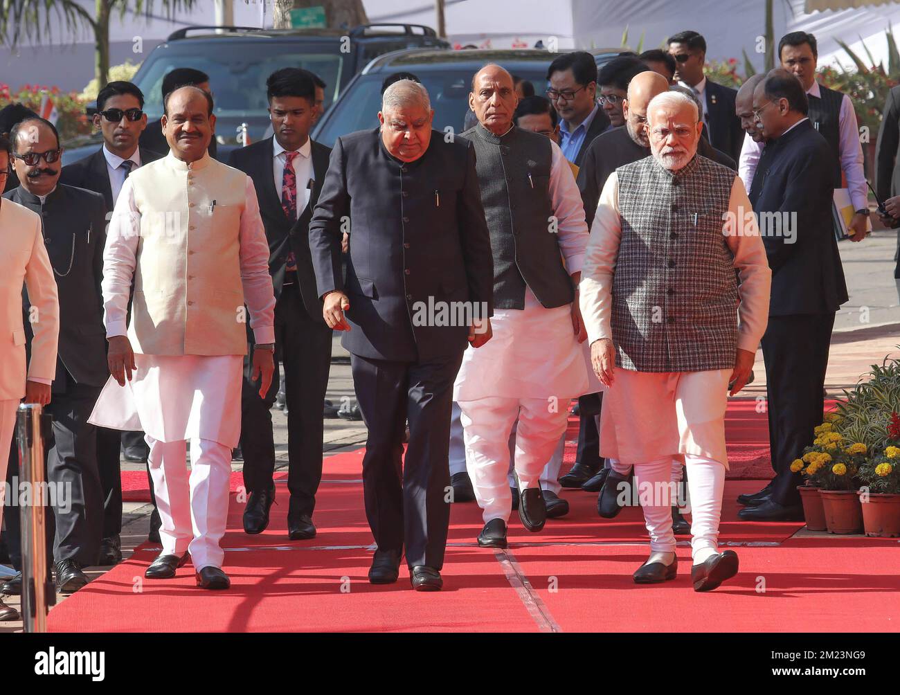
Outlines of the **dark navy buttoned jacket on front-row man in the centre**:
M342 344L351 353L412 362L462 352L468 328L428 320L428 302L477 302L489 316L493 309L491 237L472 143L432 131L425 154L404 164L384 149L378 129L338 138L310 222L310 248L319 296L342 290L349 297L352 329ZM413 320L423 305L425 320Z

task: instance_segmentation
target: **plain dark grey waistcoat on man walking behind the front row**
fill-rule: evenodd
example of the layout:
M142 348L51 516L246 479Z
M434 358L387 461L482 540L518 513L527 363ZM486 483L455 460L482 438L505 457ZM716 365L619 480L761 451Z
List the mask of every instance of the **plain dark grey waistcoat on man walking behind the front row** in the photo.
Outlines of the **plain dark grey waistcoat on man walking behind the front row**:
M554 213L550 140L518 128L497 136L481 124L463 136L475 148L484 218L491 231L494 308L525 309L526 284L547 309L572 302L572 280L549 221Z

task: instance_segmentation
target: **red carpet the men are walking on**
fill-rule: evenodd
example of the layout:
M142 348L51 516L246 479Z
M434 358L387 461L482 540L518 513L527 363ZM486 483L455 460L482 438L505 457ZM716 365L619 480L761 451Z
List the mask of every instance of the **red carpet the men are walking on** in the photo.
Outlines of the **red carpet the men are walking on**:
M410 591L409 576L366 581L372 535L365 521L362 451L329 456L315 513L319 536L285 533L287 491L266 533L246 536L232 497L222 541L229 591L193 585L193 567L175 580L145 581L156 555L142 546L128 561L51 609L49 629L68 631L897 631L900 553L896 539L789 539L799 524L736 520L734 498L759 487L728 481L721 542L741 558L741 573L717 591L689 582L689 547L679 547L679 577L635 586L647 554L640 510L599 519L596 495L564 491L572 510L528 533L514 514L506 553L474 545L482 527L474 503L455 504L437 593ZM761 591L764 590L764 591Z

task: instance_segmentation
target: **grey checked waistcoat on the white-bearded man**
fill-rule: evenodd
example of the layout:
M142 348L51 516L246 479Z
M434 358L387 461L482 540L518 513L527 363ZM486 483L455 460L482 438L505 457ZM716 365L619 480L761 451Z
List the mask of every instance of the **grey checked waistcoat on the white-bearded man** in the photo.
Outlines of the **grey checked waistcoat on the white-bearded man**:
M622 219L612 291L617 366L638 372L734 367L737 279L723 234L734 172L699 155L677 172L653 157L616 171Z

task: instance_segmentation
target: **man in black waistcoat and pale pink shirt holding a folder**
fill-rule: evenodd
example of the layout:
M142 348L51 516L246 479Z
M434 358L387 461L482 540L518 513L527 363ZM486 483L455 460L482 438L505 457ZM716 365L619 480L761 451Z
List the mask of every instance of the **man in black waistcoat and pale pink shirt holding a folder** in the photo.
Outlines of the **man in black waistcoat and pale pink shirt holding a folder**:
M863 166L860 128L848 95L819 84L815 79L818 66L818 46L815 36L806 32L790 32L779 41L781 68L788 70L800 80L806 91L809 104L809 122L824 137L832 149L832 188L846 188L850 191L853 217L847 225L851 241L862 241L869 233L869 186ZM741 152L741 167L747 180L752 182L753 174L759 166L763 143L759 140L744 140ZM750 186L752 184L748 184ZM748 188L749 190L749 188ZM822 201L831 207L829 201Z

